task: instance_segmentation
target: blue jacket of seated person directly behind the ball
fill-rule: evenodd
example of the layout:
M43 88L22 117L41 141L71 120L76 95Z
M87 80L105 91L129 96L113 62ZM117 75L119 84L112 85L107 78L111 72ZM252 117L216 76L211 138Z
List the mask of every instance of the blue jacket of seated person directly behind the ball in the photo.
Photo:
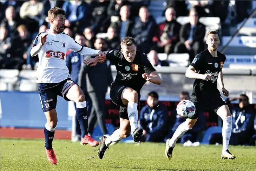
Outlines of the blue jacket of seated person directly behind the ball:
M179 126L181 123L183 123L183 122L186 121L186 119L180 117L180 116L177 114L176 109L173 110L172 115L174 115L174 114L176 114L176 121L175 121L175 124L174 124L173 127L172 127L172 132L173 132L173 133L175 132L175 130L178 128L178 126ZM199 133L199 132L201 132L201 131L203 131L203 130L205 130L205 129L206 129L206 118L205 118L205 116L204 116L204 113L201 112L201 113L199 113L199 116L198 116L198 119L197 119L197 121L196 121L195 126L193 126L193 129L191 129L190 132Z

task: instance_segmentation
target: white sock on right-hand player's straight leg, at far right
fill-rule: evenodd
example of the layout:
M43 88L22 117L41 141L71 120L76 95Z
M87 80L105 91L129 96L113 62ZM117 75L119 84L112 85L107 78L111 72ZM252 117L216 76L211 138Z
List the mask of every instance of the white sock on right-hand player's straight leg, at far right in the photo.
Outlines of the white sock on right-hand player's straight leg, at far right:
M232 115L223 120L222 126L222 152L229 149L229 140L232 130Z

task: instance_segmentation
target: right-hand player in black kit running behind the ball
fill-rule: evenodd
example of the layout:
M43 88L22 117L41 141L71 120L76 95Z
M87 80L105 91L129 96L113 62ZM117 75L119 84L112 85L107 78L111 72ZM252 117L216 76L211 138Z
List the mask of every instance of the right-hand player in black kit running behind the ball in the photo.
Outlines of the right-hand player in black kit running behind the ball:
M196 55L186 71L186 77L195 78L191 99L196 106L196 113L191 118L179 125L172 138L166 141L165 155L168 159L172 158L172 151L175 144L186 131L195 125L198 113L205 106L215 111L223 120L222 136L223 148L221 158L235 159L228 150L229 139L232 129L232 115L225 100L221 97L217 89L217 79L219 87L225 96L229 95L228 90L224 88L222 67L226 60L225 55L218 52L217 48L220 43L218 31L209 31L206 34L206 44L208 48Z

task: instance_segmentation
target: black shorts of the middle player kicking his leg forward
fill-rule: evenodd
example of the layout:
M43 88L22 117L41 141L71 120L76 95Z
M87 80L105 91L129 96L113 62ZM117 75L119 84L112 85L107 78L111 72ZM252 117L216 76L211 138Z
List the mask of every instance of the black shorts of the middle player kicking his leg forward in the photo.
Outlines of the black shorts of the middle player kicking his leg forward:
M112 84L110 87L110 99L113 101L114 104L119 105L120 118L129 120L127 105L124 105L122 101L122 92L125 88L127 88L127 86ZM139 101L140 93L139 92L137 93L138 93L138 101Z

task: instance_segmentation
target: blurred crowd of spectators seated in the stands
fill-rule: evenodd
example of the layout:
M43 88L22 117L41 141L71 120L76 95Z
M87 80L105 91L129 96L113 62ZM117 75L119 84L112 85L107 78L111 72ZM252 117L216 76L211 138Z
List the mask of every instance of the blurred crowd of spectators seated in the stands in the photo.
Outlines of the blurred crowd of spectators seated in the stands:
M219 17L222 30L248 17L251 1L159 1L165 6L166 21L156 24L150 14L152 1L0 1L1 69L37 67L38 58L29 51L35 36L50 27L47 12L59 6L66 11L65 33L85 36L85 45L94 48L98 33L107 33L106 50L120 47L125 36L135 38L138 49L149 54L154 66L169 66L158 53L188 53L190 60L205 47L201 16ZM179 16L190 16L180 25ZM222 31L223 34L225 31Z

